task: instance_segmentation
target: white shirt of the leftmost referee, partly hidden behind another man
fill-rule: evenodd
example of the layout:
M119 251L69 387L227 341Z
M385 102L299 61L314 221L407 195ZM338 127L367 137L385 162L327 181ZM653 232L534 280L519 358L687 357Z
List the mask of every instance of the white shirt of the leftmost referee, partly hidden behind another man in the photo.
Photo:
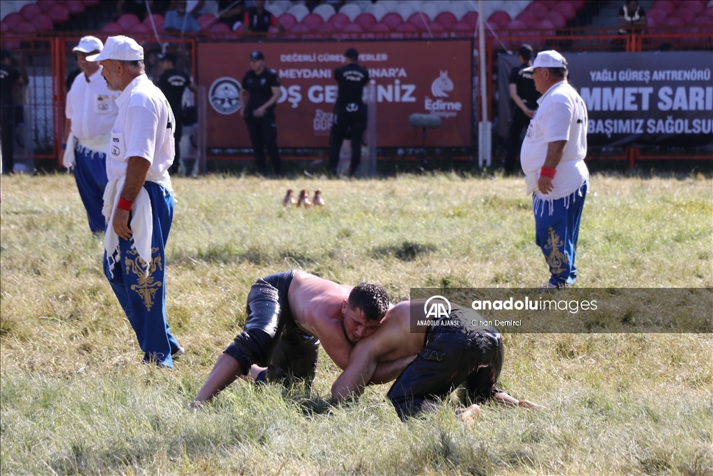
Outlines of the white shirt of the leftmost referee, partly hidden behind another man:
M80 142L94 141L108 136L114 126L119 107L116 98L119 93L109 91L99 69L87 77L80 73L67 93L65 114L72 121L72 133ZM108 145L108 137L105 145ZM106 153L106 150L103 150Z

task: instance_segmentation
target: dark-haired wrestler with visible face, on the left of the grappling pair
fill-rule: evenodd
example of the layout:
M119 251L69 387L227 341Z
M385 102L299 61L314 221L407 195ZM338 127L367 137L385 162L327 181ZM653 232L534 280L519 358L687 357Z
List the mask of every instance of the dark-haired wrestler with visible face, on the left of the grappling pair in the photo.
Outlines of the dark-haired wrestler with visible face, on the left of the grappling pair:
M386 290L375 284L352 288L299 270L260 278L247 295L242 333L220 355L191 405L211 400L249 372L255 380L302 379L309 388L319 343L346 368L353 343L374 333L389 307Z

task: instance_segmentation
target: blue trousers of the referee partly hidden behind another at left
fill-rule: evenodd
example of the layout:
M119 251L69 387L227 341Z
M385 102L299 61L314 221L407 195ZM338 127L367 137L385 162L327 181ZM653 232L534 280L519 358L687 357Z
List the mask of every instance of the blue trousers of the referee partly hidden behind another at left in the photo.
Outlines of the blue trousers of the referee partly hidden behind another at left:
M106 154L89 151L78 146L74 149L74 179L77 181L79 196L89 218L92 233L106 231L106 220L101 213L104 204L106 178Z

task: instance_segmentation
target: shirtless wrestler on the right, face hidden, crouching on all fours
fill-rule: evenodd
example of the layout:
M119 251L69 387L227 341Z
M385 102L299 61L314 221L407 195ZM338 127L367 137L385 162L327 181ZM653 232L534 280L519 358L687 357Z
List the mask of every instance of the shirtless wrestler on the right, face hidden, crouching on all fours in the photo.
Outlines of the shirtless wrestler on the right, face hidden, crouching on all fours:
M417 300L395 305L379 330L354 346L349 365L332 385L333 402L361 395L366 383L374 380L380 362L399 361L407 365L400 375L399 369L392 366L391 375L382 374L380 379L398 375L387 396L401 420L419 411L434 410L436 399L446 397L461 383L465 383L471 402L492 398L506 405L539 406L528 400L516 400L496 388L505 346L494 328L471 325L480 315L453 305L447 318L432 325L416 325L418 320L425 320L423 303ZM406 361L410 363L405 364ZM472 421L480 415L480 407L473 403L457 412L462 420Z

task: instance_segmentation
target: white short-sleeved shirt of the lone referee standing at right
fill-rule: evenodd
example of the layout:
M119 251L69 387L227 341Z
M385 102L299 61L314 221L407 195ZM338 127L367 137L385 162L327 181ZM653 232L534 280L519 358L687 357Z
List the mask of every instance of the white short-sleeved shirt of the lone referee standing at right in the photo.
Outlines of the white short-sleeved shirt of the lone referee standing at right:
M575 88L560 81L538 99L540 106L530 121L520 150L527 193L545 200L557 200L578 190L589 179L584 163L587 155L587 106ZM543 195L537 188L540 168L545 165L550 142L567 141L562 160L553 178L553 191Z

